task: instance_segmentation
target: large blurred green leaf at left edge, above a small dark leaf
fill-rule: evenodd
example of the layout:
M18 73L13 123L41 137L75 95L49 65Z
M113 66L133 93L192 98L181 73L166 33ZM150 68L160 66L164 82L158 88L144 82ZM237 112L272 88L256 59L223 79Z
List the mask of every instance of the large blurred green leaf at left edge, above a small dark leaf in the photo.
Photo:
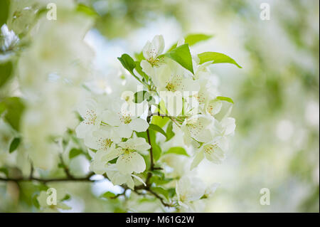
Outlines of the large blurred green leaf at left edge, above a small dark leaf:
M21 115L24 110L24 104L20 97L6 97L2 104L6 107L4 118L15 130L20 130ZM3 108L3 107L2 107Z

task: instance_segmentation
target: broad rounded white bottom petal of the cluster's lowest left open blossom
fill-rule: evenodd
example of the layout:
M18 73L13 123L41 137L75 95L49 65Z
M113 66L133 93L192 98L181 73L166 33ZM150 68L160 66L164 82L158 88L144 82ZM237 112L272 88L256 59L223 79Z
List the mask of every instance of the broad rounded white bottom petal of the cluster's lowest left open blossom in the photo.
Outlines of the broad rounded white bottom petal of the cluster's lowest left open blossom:
M117 169L122 174L131 174L132 172L141 173L146 169L144 158L137 152L122 154L117 159Z

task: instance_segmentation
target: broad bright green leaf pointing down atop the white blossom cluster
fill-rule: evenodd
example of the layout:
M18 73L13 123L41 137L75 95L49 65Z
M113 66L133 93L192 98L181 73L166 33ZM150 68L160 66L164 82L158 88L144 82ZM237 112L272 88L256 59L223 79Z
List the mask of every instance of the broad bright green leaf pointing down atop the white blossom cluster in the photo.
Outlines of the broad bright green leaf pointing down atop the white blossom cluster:
M178 46L177 48L174 48L172 51L164 53L161 56L166 56L168 58L171 58L172 60L175 60L183 68L186 68L193 74L192 57L188 44Z

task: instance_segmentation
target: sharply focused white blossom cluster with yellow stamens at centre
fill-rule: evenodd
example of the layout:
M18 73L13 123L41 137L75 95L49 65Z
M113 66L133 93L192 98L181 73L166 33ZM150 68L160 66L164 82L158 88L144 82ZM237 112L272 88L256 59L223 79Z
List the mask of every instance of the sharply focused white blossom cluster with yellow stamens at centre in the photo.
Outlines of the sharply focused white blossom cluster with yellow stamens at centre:
M88 148L95 174L106 174L113 184L132 190L140 185L161 189L173 185L175 196L168 200L192 208L213 194L218 184L206 186L189 173L203 159L223 162L228 137L235 131L235 119L229 117L233 100L220 95L209 65L233 62L220 53L191 55L185 42L181 38L164 53L163 36L155 36L137 60L122 55L120 62L142 86L136 93L125 90L117 97L105 97L107 101L90 97L82 102L78 107L82 122L75 132ZM175 144L178 137L181 147ZM164 143L169 143L168 152L161 151ZM188 163L186 171L169 182L150 180L154 169L170 176L179 167L175 163L170 168L168 159L181 155L192 160L183 163Z

